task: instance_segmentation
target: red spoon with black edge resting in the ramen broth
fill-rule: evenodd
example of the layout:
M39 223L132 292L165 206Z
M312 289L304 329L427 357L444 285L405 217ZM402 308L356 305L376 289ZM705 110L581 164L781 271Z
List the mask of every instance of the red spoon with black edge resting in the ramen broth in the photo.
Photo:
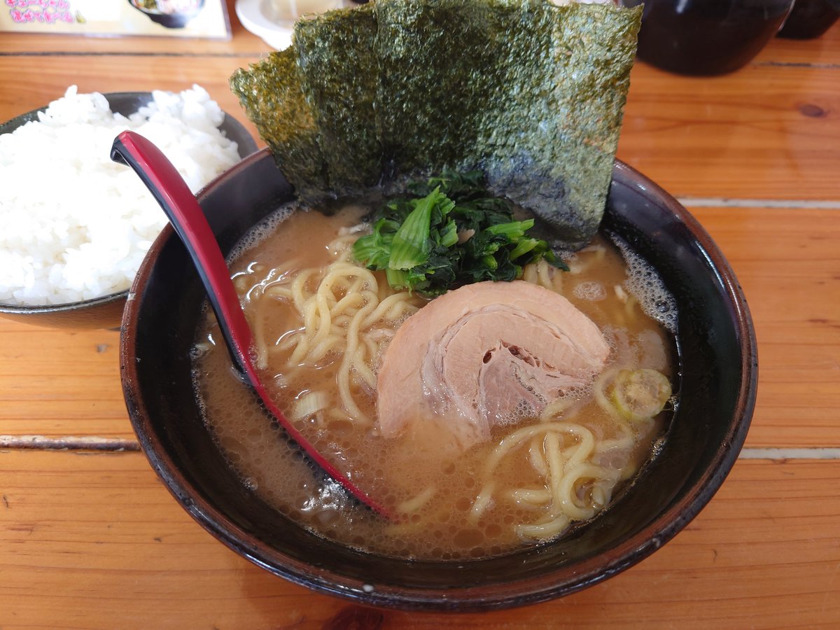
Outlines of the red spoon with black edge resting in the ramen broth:
M123 131L114 139L111 159L134 169L155 195L155 199L160 203L172 227L186 245L192 262L196 265L198 275L202 278L204 288L207 290L207 298L216 313L231 359L253 387L260 402L265 406L265 410L280 423L288 436L303 449L309 459L336 480L345 491L374 512L391 517L385 507L367 496L364 491L354 485L353 481L330 464L322 454L319 454L307 438L303 437L271 401L251 360L250 349L253 346L253 335L242 307L239 305L239 296L234 289L234 283L230 280L228 265L204 217L202 207L198 205L196 197L186 186L186 182L181 178L175 166L166 159L155 144L132 131Z

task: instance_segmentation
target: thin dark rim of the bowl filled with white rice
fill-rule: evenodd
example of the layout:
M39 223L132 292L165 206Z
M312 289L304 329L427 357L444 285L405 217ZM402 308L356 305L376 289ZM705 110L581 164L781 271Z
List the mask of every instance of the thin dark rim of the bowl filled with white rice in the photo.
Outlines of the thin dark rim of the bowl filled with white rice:
M153 92L144 92L144 91L127 91L127 92L98 92L102 94L103 97L108 99L108 105L112 108L113 106L111 103L111 99L118 99L118 100L126 100L130 101L131 99L137 99L138 102L140 99L144 99L144 102L138 105L139 107L144 107L148 105L153 99ZM63 97L63 95L61 96ZM55 99L58 100L58 99ZM30 109L29 112L24 112L18 114L14 118L9 118L4 123L0 123L0 135L3 134L11 134L15 129L18 127L22 127L25 123L29 123L30 121L38 120L38 113L44 112L47 108L50 107L50 103L46 105ZM116 107L119 107L118 105ZM254 136L245 129L244 125L239 122L236 118L231 116L229 113L222 110L224 114L224 118L222 123L219 125L218 129L222 127L227 127L228 129L235 130L237 134L241 135L242 139L246 146L243 148L239 144L239 140L237 140L237 152L239 153L239 162L247 158L249 155L253 155L258 152L259 147L254 139ZM126 114L123 114L126 115ZM237 164L239 164L237 162ZM234 165L235 166L235 165ZM234 168L231 166L231 168ZM228 169L229 170L229 169ZM207 184L202 186L202 189L197 192L197 195L201 195L204 189L209 188L212 186L216 180L224 176L224 172L219 173L218 176L213 177L211 181L208 181ZM167 223L168 225L168 223ZM13 304L12 302L3 302L0 300L0 313L8 314L8 315L35 315L35 314L47 314L47 313L63 313L63 312L70 312L76 311L82 308L90 308L90 307L100 307L106 304L110 304L112 302L118 302L119 300L126 299L129 295L130 285L120 291L113 291L111 293L105 293L101 296L87 298L86 300L77 300L76 302L56 302L50 304Z

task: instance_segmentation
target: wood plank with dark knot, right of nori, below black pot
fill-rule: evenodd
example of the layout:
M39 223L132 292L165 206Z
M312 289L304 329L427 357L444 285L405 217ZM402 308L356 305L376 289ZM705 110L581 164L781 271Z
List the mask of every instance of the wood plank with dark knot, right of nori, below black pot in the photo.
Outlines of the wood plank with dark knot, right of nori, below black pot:
M638 65L618 157L681 197L840 200L840 66L714 79Z

